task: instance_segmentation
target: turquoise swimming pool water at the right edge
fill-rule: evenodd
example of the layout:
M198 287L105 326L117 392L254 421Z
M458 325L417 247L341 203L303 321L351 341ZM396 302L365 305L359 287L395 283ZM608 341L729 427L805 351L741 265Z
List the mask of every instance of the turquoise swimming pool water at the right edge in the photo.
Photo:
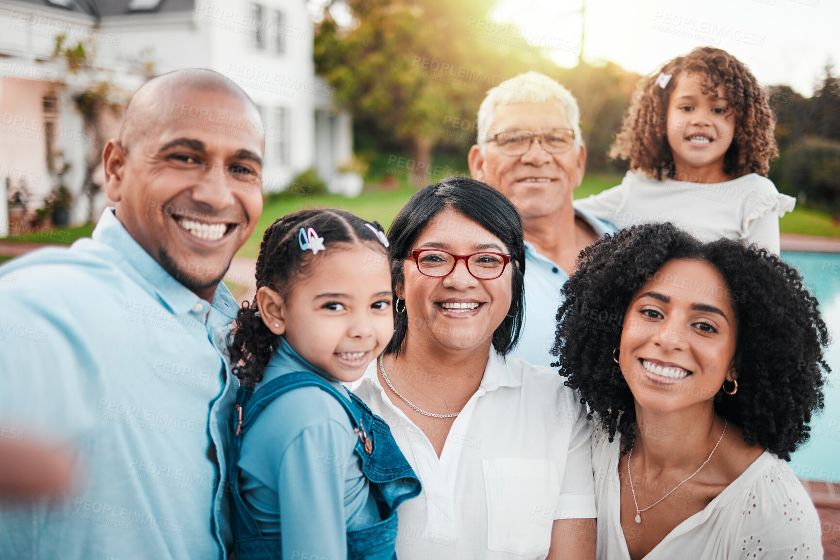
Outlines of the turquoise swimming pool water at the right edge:
M820 302L832 343L825 353L832 369L823 387L826 408L811 420L811 439L793 453L790 468L801 479L840 483L840 254L782 253Z

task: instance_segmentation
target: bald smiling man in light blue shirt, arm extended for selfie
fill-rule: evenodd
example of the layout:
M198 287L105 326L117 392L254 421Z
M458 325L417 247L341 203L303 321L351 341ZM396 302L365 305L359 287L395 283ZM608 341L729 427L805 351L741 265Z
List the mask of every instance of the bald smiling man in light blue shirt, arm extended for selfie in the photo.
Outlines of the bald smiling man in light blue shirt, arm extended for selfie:
M116 208L0 268L0 433L70 444L77 480L49 504L0 497L0 557L226 557L238 306L220 280L262 212L261 128L213 71L149 81L102 154Z

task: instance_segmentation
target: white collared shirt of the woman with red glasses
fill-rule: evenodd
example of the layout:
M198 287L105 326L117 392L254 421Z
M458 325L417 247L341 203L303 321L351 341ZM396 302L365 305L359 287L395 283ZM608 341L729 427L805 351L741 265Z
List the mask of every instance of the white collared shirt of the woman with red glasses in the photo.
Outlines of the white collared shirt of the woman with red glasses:
M591 422L554 371L506 362L491 350L438 459L382 390L376 367L370 364L354 393L388 423L423 484L396 510L401 560L544 558L555 519L596 516Z

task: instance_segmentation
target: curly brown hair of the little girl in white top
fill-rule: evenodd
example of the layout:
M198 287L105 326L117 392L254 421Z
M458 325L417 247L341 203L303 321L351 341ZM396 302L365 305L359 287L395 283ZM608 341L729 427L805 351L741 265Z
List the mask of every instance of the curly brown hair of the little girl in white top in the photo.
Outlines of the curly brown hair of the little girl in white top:
M697 47L664 65L662 73L673 76L665 87L658 85L658 74L638 81L610 157L629 160L630 169L643 170L660 181L675 178L666 115L676 82L691 72L701 76L703 94L717 97L718 86L723 86L735 115L735 137L723 156L723 172L732 177L748 173L766 177L770 160L779 155L773 135L776 117L767 90L743 62L714 47Z

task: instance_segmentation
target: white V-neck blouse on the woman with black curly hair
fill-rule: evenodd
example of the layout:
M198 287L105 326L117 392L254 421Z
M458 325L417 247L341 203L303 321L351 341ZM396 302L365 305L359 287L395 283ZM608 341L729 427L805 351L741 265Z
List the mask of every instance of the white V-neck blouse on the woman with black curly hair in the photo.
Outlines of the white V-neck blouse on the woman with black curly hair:
M621 524L620 437L597 427L592 465L598 510L598 560L630 560ZM642 514L644 516L644 514ZM630 531L644 531L642 525ZM628 536L633 537L633 532ZM676 526L645 560L822 559L822 531L811 498L793 471L765 451L702 511Z

